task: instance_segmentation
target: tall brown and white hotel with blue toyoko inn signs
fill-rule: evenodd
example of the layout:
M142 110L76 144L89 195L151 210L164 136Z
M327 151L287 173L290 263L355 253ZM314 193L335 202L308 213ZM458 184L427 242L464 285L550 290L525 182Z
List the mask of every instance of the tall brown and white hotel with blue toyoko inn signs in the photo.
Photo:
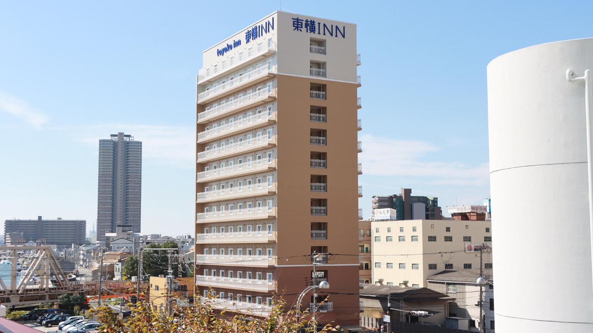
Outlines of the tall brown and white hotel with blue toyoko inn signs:
M327 280L301 309L358 324L359 64L355 24L279 11L203 52L195 278L216 308L266 316Z

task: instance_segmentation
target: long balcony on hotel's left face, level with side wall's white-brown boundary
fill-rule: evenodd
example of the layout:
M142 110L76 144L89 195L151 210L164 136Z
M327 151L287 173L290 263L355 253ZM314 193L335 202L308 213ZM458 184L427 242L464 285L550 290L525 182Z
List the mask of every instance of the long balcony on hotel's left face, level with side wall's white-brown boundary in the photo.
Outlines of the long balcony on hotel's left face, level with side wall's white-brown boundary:
M216 100L221 94L232 94L235 91L239 91L246 88L249 85L257 84L267 78L271 78L276 75L276 66L264 65L259 68L249 71L244 75L237 76L231 81L224 82L224 84L216 85L211 89L202 91L197 94L197 104L206 104L213 100Z

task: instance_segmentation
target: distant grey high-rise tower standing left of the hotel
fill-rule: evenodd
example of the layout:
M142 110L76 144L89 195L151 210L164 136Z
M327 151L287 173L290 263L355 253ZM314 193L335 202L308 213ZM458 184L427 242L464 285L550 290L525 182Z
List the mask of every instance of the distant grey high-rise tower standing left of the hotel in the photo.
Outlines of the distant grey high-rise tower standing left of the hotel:
M140 232L142 142L123 132L99 140L97 241L116 225Z

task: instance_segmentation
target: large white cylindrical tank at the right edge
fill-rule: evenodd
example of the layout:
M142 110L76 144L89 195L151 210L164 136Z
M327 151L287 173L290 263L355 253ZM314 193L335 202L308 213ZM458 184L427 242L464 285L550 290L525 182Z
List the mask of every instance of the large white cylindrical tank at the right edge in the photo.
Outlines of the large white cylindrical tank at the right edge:
M567 69L593 69L593 38L488 65L497 332L593 332L585 86Z

